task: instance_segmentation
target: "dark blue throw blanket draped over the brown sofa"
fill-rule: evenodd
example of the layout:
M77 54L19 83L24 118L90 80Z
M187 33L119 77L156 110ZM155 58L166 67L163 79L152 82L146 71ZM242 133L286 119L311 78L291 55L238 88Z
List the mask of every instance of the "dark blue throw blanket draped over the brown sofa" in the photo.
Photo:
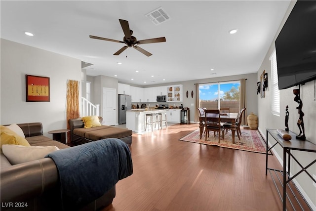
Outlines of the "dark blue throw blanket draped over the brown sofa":
M57 150L46 157L57 166L64 210L94 201L133 173L129 148L117 138Z

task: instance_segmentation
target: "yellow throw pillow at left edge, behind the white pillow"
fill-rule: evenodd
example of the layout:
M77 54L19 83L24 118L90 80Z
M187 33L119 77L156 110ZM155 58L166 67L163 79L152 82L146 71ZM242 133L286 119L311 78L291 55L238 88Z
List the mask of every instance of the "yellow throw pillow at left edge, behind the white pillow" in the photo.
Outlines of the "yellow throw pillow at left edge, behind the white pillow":
M22 145L26 147L31 146L25 138L19 136L8 127L1 126L0 129L1 129L1 139L0 139L1 148L3 144L15 144L15 145Z

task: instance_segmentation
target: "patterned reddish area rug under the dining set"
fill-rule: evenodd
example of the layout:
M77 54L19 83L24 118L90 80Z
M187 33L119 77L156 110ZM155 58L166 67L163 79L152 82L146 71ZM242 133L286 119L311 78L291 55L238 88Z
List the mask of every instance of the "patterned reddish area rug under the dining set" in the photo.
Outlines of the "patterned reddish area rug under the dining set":
M221 141L218 143L218 136L214 138L214 132L209 132L209 138L205 141L205 134L202 134L202 138L199 139L199 129L191 132L190 134L180 138L180 141L188 141L198 144L206 144L206 145L216 145L219 147L244 150L249 152L257 152L257 153L266 153L266 143L262 139L260 133L257 130L247 130L241 129L241 137L240 141L237 136L237 132L235 133L235 144L232 143L232 131L228 131L227 134L224 135L224 140L221 136Z

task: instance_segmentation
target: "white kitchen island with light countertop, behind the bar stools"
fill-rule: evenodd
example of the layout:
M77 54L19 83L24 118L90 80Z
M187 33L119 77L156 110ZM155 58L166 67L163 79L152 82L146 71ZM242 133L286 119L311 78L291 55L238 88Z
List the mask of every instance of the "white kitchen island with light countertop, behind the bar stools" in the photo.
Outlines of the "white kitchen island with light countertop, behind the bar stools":
M132 109L126 111L126 128L131 129L133 132L142 134L145 133L146 114L166 113L168 109L153 109L146 111L145 109ZM151 128L147 127L147 129Z

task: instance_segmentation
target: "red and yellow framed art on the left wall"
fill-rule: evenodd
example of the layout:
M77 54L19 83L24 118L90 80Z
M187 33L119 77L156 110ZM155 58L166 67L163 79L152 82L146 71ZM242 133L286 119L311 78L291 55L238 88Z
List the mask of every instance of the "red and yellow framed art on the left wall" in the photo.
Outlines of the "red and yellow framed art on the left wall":
M25 75L25 80L27 102L50 101L50 87L48 77Z

